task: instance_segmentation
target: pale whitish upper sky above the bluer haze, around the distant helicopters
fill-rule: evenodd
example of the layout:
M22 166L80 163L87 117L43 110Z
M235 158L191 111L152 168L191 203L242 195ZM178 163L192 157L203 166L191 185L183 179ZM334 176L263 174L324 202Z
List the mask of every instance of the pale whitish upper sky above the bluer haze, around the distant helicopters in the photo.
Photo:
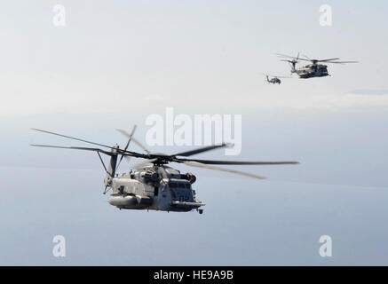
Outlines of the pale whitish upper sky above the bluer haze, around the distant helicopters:
M65 28L52 24L54 4L1 4L3 115L388 106L386 96L348 93L386 89L385 1L333 3L331 27L319 24L330 4L321 1L64 1ZM289 75L273 53L298 51L360 64L263 83L261 73Z

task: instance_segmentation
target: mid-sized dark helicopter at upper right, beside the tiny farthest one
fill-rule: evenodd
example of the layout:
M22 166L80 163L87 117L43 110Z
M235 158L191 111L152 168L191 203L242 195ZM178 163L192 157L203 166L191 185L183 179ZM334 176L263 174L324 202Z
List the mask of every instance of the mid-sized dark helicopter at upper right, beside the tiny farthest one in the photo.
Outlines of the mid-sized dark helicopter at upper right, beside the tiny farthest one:
M335 64L358 63L358 61L336 61L336 60L339 60L339 58L310 59L305 55L304 55L305 58L300 58L299 53L297 53L297 57L292 57L289 55L284 55L279 53L277 53L277 55L281 58L287 58L287 59L281 59L281 61L289 62L291 66L291 75L293 73L296 73L299 76L299 78L302 78L302 79L329 76L328 66L324 64L320 64L320 62L335 63ZM299 62L299 60L310 61L312 62L312 64L297 68L296 65Z

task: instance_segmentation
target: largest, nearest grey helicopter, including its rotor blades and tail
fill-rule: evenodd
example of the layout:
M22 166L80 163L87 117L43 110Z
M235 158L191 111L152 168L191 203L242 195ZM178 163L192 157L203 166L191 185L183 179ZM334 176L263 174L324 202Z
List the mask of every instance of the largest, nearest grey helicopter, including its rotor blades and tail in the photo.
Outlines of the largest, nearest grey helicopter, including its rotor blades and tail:
M179 170L168 166L170 162L184 163L187 166L197 167L208 170L221 170L234 174L239 174L246 177L260 177L248 172L220 168L213 165L278 165L278 164L296 164L298 162L242 162L242 161L214 161L202 159L189 159L194 154L208 152L210 150L231 146L227 143L220 145L203 146L194 150L180 152L176 154L153 154L143 146L139 140L133 137L136 130L136 125L131 130L131 133L126 130L120 131L128 141L123 148L117 144L115 146L107 146L104 144L91 142L81 138L70 137L67 135L51 132L47 130L32 129L39 132L59 136L62 138L73 139L83 143L91 144L97 147L80 147L80 146L51 146L31 144L30 146L50 147L61 149L74 149L96 152L99 160L106 171L104 178L105 190L104 194L109 189L112 190L108 203L118 209L147 209L161 210L167 212L188 212L197 210L200 214L203 213L202 206L205 205L202 201L196 198L195 190L192 185L196 181L194 174L187 172L181 173ZM128 147L133 143L137 144L145 151L145 154L128 151ZM101 147L103 149L101 149ZM101 154L110 157L110 161L106 166ZM129 172L117 174L116 171L123 161L123 158L130 159L131 157L143 159L133 166Z

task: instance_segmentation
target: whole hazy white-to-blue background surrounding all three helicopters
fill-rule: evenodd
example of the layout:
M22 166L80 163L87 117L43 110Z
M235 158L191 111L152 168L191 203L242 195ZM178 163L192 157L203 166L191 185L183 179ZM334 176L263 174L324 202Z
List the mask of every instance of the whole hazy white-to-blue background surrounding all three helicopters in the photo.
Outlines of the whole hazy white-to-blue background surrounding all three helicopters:
M66 27L52 24L55 4L66 8ZM331 27L320 26L321 4L332 7ZM0 4L0 264L388 264L387 8L386 1ZM289 75L275 52L360 63L273 86L262 73ZM31 127L123 145L115 128L136 123L144 141L146 116L166 106L242 114L235 159L302 163L244 168L265 181L190 169L204 215L146 213L107 203L97 155L28 146L79 145ZM51 254L56 234L67 238L65 258ZM318 253L323 234L333 238L330 258Z

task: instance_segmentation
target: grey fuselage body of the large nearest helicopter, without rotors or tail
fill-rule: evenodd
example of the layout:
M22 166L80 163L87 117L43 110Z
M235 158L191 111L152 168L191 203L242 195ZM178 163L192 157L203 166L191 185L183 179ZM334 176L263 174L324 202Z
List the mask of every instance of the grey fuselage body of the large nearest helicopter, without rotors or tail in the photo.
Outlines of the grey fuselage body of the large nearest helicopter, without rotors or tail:
M131 170L112 179L108 202L118 209L187 212L205 205L195 198L194 181L194 175L166 166Z

